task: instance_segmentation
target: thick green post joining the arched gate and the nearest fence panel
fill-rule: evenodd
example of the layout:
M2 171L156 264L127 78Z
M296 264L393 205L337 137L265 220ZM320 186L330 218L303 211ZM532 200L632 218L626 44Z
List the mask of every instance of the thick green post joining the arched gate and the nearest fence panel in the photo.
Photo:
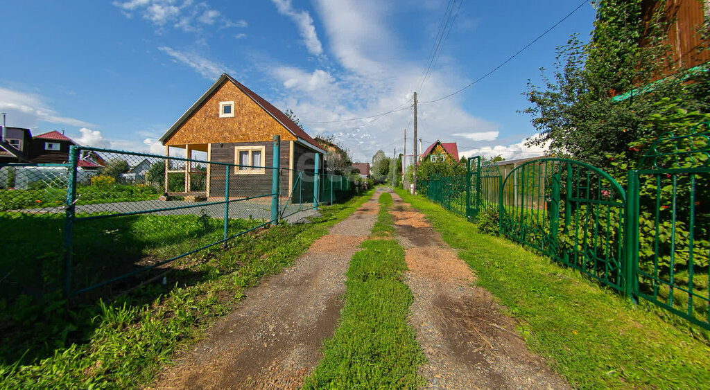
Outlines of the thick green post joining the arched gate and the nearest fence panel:
M640 194L637 171L629 171L627 178L621 267L623 267L624 275L624 280L622 281L624 294L626 297L633 299L638 292L636 291L636 266L638 264L638 198Z

